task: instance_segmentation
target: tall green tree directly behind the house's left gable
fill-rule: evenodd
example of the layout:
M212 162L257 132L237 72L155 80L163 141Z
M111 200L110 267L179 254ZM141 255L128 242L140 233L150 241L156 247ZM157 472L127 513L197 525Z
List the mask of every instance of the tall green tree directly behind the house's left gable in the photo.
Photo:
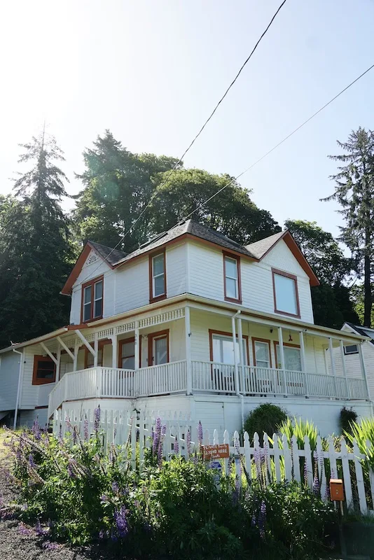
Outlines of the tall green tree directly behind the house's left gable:
M116 246L148 204L155 184L152 177L172 169L175 158L127 151L109 130L83 153L85 171L77 175L84 189L74 211L78 237L84 242ZM120 243L129 252L149 235L145 220Z

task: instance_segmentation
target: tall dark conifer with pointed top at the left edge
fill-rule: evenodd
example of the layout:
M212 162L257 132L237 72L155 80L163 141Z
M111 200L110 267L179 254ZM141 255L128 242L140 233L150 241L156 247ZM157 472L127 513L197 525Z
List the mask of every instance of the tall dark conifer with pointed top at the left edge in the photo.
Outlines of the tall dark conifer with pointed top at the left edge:
M61 209L67 181L53 137L33 137L20 162L15 196L0 204L0 345L42 335L68 323L60 290L74 258L69 223Z

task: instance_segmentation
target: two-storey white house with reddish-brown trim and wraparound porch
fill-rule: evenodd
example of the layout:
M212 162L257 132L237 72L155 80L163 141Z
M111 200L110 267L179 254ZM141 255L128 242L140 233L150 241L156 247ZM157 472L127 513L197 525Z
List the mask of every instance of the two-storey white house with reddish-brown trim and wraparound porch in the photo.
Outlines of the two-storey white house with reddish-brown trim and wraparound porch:
M45 422L100 403L233 431L273 402L336 432L343 405L371 405L364 368L331 374L326 349L366 336L314 325L317 284L288 231L244 247L189 220L129 255L89 241L62 288L70 324L0 351L0 410Z

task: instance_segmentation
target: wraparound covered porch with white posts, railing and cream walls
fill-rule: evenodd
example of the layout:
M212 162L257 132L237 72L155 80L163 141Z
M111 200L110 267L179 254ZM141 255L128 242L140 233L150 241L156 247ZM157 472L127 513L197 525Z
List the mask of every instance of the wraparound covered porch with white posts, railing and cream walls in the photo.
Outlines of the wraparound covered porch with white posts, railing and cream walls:
M191 297L105 328L75 328L43 343L55 364L48 416L62 402L90 398L368 399L360 337L201 300ZM333 349L343 356L352 344L359 349L360 371L337 375Z

